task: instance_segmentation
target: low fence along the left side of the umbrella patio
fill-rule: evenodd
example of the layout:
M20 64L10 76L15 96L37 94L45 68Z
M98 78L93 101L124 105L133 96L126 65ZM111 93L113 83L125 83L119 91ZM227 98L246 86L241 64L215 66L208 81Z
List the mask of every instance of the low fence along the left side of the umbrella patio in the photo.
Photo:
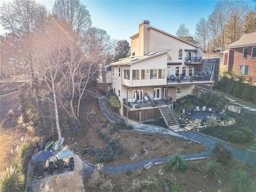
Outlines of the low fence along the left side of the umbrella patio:
M38 145L40 146L41 149L43 148L45 137L46 136L43 135L41 140L40 140L40 142L38 142ZM36 148L34 154L37 154L38 152L39 152L38 148ZM25 192L32 191L31 184L32 184L32 181L33 181L33 176L34 176L34 166L32 164L32 159L30 159L30 161L28 163L28 172L27 172L27 180L26 180Z

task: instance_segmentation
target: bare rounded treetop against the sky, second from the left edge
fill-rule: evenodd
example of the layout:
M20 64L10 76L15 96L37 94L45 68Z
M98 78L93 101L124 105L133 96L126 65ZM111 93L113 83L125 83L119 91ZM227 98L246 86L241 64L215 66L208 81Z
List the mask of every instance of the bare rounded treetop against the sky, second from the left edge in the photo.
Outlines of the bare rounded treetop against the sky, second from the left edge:
M92 26L90 12L80 0L56 0L52 13L66 20L77 34Z

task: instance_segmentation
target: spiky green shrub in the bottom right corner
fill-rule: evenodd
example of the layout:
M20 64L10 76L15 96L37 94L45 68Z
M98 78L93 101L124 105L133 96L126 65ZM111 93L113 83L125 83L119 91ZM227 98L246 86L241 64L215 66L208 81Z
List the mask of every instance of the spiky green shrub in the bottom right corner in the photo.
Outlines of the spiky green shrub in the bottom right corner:
M232 191L237 192L251 192L253 186L250 176L242 170L234 171L228 184Z

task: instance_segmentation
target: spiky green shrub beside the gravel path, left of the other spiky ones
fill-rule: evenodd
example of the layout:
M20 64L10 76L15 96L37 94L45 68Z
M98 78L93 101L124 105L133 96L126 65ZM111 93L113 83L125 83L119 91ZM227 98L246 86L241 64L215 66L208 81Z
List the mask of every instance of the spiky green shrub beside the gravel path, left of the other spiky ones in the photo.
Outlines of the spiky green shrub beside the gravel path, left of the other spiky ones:
M188 168L188 164L184 158L178 153L174 153L169 156L166 161L168 169L185 171Z

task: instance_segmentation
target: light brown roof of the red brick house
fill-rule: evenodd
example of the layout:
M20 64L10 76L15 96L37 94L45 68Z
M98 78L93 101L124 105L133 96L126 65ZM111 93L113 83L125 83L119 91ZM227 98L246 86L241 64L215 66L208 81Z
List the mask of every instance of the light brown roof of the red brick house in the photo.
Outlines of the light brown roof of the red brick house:
M228 45L228 48L256 45L256 32L243 34L236 42Z

